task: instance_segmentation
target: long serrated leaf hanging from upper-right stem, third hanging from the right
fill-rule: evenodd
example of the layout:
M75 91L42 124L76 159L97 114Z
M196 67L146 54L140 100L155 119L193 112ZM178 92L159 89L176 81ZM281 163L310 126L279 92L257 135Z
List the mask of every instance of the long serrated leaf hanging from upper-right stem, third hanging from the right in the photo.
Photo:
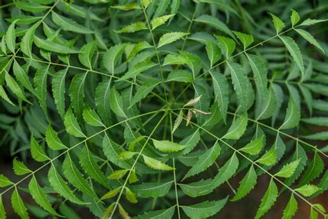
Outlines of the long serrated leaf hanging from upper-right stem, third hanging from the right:
M248 79L246 73L240 64L235 62L227 62L230 69L231 77L233 78L233 89L235 89L237 94L237 99L239 105L242 107L242 111L246 111L248 103L248 93L246 92L250 87L248 87Z

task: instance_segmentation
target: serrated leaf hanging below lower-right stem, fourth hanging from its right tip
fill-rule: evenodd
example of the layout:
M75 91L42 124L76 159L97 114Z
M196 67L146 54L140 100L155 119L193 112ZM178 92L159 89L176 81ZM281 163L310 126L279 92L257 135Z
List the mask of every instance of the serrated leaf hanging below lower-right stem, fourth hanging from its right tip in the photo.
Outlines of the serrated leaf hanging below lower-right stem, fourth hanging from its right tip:
M239 187L235 197L231 200L233 202L244 198L252 189L257 182L257 175L254 166L250 166L245 177L239 182Z

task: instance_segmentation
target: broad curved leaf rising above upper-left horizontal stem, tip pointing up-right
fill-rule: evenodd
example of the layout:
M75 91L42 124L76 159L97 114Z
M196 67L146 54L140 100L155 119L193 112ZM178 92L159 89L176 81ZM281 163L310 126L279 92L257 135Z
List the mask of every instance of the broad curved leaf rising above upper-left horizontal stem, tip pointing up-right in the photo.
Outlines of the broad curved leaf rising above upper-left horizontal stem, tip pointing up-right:
M104 68L109 71L109 73L114 74L115 66L124 53L125 47L127 44L117 44L115 46L111 46L111 48L104 53L104 58L102 58L102 63L104 64Z

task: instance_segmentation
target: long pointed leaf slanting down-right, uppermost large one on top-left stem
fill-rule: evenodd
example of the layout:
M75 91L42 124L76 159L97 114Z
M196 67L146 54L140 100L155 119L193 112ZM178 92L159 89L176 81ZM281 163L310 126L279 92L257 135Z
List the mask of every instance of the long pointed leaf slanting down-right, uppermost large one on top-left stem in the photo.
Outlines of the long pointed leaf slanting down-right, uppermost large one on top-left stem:
M58 15L55 12L51 13L51 18L53 19L53 22L58 26L60 26L60 28L62 28L63 30L67 30L75 33L84 33L84 34L93 33L92 30L86 28L85 26L78 24L72 19L69 19L62 15Z

